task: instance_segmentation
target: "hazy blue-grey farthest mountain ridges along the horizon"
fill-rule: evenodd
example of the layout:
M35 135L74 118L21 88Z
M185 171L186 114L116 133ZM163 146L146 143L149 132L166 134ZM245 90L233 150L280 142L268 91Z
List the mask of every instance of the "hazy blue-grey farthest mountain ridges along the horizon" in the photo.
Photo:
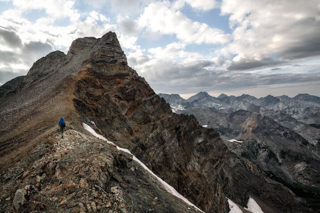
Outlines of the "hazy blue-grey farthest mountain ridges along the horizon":
M231 113L239 109L244 109L260 114L270 114L270 110L273 110L275 113L282 112L290 115L297 121L306 124L320 123L320 97L306 93L296 95L293 98L286 95L278 97L268 95L259 99L247 94L236 97L227 96L223 93L216 98L207 92L199 92L188 99L183 99L178 94L168 95L159 93L159 96L170 104L173 111L180 110L180 113L182 113L181 110L192 107L212 109L223 113ZM179 113L179 111L177 111L177 113Z

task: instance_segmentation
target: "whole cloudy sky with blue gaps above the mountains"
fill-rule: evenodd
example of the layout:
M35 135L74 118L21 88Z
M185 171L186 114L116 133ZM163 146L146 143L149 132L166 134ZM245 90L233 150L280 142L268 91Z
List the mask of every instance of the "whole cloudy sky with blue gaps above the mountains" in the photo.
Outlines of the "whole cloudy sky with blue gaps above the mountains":
M0 0L0 85L108 31L156 93L320 93L319 0Z

